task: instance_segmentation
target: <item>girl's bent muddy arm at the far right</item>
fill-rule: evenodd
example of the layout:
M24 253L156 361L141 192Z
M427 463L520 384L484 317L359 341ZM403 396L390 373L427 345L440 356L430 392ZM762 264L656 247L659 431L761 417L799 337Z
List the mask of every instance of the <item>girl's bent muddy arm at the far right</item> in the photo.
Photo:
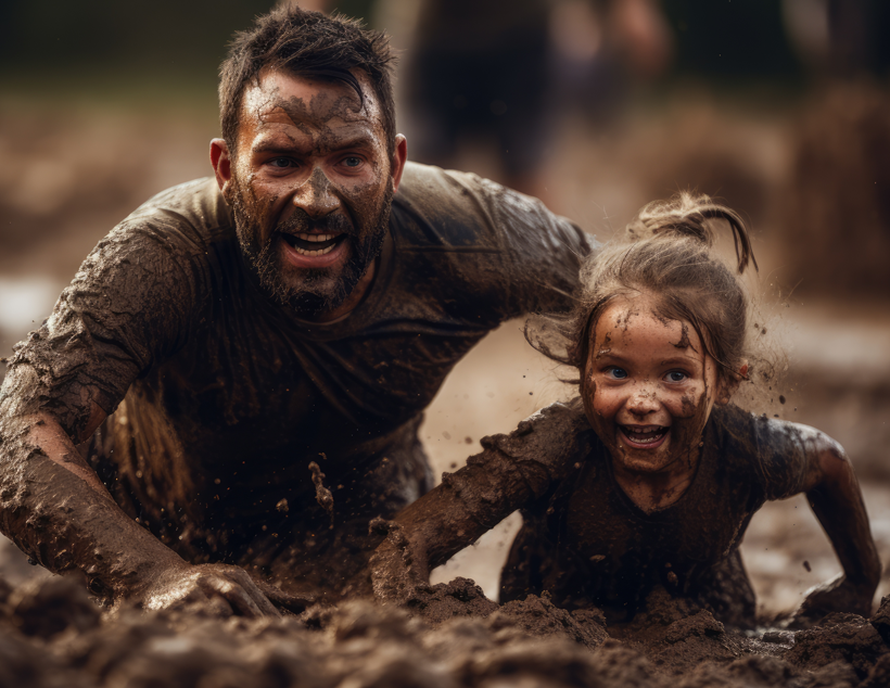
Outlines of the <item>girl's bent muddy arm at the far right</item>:
M810 467L804 492L831 540L843 575L811 590L796 616L815 619L829 612L870 616L880 560L853 467L837 442L816 430L798 428L803 431Z

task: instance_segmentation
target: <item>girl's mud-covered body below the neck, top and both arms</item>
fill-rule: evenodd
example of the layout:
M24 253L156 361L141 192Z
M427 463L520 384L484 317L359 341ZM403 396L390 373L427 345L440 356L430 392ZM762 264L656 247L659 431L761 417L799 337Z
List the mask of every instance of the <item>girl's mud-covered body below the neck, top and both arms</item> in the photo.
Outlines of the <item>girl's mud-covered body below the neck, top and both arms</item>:
M647 513L615 481L581 400L556 404L510 435L483 441L483 454L399 514L374 555L376 593L404 599L430 568L521 508L524 525L504 571L501 599L546 590L561 606L600 607L614 621L663 586L730 623L750 623L754 600L738 545L764 501L825 485L816 437L824 438L802 425L719 407L705 425L691 485L670 507ZM849 497L826 499L837 521L826 530L848 576L867 579L857 596L832 603L859 612L870 606L879 563L861 497L859 506ZM828 520L826 511L816 513Z

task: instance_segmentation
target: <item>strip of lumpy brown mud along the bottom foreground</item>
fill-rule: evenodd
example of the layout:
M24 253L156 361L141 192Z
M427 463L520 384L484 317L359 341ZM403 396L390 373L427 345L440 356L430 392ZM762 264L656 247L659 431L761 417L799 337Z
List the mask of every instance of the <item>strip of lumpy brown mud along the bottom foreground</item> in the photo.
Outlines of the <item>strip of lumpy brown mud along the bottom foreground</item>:
M403 608L366 600L281 621L199 609L112 616L75 581L0 589L0 686L887 686L890 598L808 630L725 628L665 593L623 627L546 597L498 606L471 581Z

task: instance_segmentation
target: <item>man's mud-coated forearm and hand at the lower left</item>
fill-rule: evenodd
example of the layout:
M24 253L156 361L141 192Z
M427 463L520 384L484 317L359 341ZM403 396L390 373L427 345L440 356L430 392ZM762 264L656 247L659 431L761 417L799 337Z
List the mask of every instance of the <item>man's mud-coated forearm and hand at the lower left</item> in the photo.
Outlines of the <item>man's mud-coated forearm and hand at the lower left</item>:
M81 571L99 597L147 609L208 601L221 613L278 615L237 566L193 566L114 502L74 441L47 411L21 412L16 369L0 402L0 530L54 573ZM105 412L90 404L88 438Z

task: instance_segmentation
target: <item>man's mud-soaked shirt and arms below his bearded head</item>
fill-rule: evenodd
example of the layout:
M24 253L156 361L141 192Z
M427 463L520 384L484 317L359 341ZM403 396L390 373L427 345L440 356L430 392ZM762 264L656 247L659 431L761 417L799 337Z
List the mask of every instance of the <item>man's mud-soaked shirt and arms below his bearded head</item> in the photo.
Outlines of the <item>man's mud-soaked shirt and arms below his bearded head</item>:
M151 578L149 563L185 564L160 540L293 593L364 585L380 537L368 521L430 485L422 409L491 329L567 307L592 245L531 199L408 165L365 300L319 324L257 286L214 180L166 191L100 242L10 359L2 531L114 597ZM94 469L119 509L26 442L38 412L89 439L64 453L87 457L80 475Z

